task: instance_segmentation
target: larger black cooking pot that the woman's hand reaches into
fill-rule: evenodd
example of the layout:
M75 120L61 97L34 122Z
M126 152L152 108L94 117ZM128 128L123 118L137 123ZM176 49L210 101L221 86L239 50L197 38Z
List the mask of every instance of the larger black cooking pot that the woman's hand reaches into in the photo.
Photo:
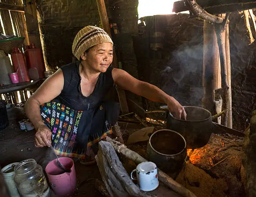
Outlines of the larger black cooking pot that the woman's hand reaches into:
M202 107L184 106L184 109L187 120L174 118L169 113L167 128L184 136L187 148L201 148L208 143L214 128L211 113Z

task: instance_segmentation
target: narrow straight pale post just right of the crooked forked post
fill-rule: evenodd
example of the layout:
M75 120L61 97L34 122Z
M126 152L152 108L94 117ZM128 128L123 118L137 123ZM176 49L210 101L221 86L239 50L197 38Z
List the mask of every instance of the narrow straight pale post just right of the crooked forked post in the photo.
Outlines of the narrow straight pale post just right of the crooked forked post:
M229 46L229 26L226 28L225 52L227 60L227 74L228 74L228 127L232 128L232 91L231 91L231 65L230 65L230 46Z

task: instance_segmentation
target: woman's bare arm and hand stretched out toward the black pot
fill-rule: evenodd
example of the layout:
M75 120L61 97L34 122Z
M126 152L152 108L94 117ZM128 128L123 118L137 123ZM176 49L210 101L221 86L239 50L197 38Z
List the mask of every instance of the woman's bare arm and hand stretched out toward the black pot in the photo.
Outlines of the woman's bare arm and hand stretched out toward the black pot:
M122 89L129 90L134 94L145 97L151 101L166 103L172 115L179 119L186 119L187 115L184 107L182 107L174 97L167 95L158 87L147 82L142 82L121 69L114 68L112 76L115 84Z

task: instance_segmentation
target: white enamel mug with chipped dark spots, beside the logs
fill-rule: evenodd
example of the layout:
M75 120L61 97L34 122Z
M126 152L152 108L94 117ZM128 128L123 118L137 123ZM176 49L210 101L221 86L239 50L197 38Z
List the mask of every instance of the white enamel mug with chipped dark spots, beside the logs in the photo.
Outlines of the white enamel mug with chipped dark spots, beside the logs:
M136 177L133 176L135 171ZM131 173L131 179L137 180L137 184L141 190L145 192L153 191L159 186L156 164L151 161L138 164L136 169Z

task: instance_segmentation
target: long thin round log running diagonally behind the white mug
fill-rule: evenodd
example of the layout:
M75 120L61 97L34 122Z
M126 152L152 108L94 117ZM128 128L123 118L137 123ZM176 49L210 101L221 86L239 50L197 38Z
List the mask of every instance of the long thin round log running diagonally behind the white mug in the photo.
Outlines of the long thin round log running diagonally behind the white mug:
M131 159L136 164L140 164L141 162L147 161L146 159L144 159L142 156L140 156L136 152L127 148L124 144L114 141L111 138L109 138L108 136L106 137L106 139L115 148L115 151L122 154L126 158ZM161 169L158 169L158 178L159 178L160 182L165 184L169 189L172 189L177 194L179 194L183 197L196 197L195 194L190 192L188 189L183 187L181 184L174 181L174 179L172 179L167 174L165 174L163 171L161 171Z

